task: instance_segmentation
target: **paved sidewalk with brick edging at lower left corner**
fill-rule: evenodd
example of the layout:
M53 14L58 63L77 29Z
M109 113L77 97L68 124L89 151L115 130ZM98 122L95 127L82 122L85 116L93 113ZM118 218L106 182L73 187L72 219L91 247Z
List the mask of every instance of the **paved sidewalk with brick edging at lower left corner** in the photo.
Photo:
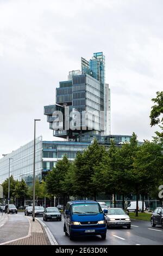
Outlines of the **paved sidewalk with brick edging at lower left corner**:
M51 245L37 219L33 222L32 217L22 215L4 215L4 219L2 227L0 224L0 245Z

